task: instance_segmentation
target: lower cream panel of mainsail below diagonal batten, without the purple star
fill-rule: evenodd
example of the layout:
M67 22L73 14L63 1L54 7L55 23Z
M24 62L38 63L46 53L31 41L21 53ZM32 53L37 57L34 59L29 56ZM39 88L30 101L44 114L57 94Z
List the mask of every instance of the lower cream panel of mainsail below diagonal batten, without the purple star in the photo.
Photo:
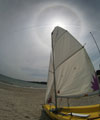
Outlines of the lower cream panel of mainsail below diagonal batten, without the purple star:
M92 92L94 74L94 68L83 48L56 70L57 95L73 96Z

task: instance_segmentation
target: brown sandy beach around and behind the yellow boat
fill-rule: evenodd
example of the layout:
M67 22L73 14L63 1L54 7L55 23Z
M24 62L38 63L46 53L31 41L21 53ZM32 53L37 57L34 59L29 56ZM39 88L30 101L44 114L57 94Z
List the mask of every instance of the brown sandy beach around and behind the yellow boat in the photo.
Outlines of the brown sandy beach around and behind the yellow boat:
M0 83L0 120L49 120L42 111L45 92L46 89L20 88ZM71 106L97 103L100 103L99 96L70 100Z

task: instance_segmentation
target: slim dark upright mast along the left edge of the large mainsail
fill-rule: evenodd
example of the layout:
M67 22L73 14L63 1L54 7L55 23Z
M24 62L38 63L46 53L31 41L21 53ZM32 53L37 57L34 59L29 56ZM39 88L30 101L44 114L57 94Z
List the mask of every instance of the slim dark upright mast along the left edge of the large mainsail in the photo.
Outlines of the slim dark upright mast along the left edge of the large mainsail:
M53 32L52 32L52 36L53 36ZM55 64L54 64L54 47L53 47L53 37L52 37L52 56L53 56L53 70L54 70L55 110L57 111L57 94L56 94L56 76L55 76Z

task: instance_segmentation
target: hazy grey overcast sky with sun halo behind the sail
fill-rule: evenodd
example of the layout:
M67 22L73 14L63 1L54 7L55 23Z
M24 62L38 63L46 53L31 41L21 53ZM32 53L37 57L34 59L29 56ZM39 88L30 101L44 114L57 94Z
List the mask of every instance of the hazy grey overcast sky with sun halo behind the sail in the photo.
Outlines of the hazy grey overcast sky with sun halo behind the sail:
M100 54L100 0L0 0L0 74L47 81L51 32L68 30L85 48L95 70Z

